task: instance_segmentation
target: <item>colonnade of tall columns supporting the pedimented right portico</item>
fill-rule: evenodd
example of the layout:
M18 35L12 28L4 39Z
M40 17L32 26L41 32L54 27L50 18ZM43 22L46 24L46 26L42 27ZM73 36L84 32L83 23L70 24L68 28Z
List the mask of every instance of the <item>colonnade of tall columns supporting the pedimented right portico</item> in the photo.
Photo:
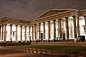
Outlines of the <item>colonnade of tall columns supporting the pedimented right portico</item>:
M77 38L77 36L80 35L80 30L79 30L79 19L77 18L77 16L72 16L72 19L73 19L73 28L74 28L74 38ZM66 25L66 28L65 28L65 37L67 38L67 40L69 40L69 23L68 23L68 20L69 20L69 17L65 17L65 25ZM77 20L77 21L76 21ZM53 26L54 26L54 39L56 38L56 20L52 20L53 21ZM48 39L50 40L50 21L47 21L48 22ZM60 37L60 39L62 38L62 19L58 19L58 37ZM76 25L76 22L78 25ZM35 25L35 39L38 39L37 38L37 24L34 24ZM41 33L40 33L40 25L41 23L38 23L38 26L39 26L39 39L41 39ZM71 28L72 29L72 28ZM77 31L76 31L77 29ZM79 32L77 34L77 32ZM71 34L72 35L72 34ZM45 22L43 22L43 39L45 39Z

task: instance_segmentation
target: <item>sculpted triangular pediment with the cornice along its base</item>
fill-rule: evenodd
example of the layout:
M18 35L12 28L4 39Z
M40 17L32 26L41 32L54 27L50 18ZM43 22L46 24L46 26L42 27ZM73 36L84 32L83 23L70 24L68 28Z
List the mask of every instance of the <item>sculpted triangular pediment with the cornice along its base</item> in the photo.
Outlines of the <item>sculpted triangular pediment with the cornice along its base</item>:
M71 12L71 11L78 12L78 10L76 9L50 9L45 13L41 14L40 16L38 16L37 18L35 18L34 21L42 18L47 18L53 15L64 14L66 12Z

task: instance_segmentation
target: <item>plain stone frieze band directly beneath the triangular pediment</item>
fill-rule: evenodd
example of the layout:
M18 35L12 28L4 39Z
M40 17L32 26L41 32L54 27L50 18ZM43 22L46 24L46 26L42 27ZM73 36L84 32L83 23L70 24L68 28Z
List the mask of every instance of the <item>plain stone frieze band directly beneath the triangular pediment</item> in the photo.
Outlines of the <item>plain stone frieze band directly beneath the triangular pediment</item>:
M63 14L57 14L57 15L53 15L50 17L44 17L44 18L40 18L40 19L36 19L35 22L36 23L40 23L40 22L46 22L46 21L51 21L51 20L56 20L56 19L60 19L60 18L65 18L65 17L71 17L76 15L77 12L67 12L67 13L63 13Z

